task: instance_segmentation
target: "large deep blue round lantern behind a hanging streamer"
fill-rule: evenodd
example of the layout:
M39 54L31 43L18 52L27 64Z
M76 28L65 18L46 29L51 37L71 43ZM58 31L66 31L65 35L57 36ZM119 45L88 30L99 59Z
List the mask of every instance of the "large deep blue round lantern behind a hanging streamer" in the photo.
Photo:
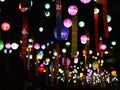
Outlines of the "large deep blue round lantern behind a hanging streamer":
M69 35L69 29L66 28L64 25L61 25L61 37L57 36L57 29L56 27L54 28L54 37L58 41L66 40L68 38L68 35Z

